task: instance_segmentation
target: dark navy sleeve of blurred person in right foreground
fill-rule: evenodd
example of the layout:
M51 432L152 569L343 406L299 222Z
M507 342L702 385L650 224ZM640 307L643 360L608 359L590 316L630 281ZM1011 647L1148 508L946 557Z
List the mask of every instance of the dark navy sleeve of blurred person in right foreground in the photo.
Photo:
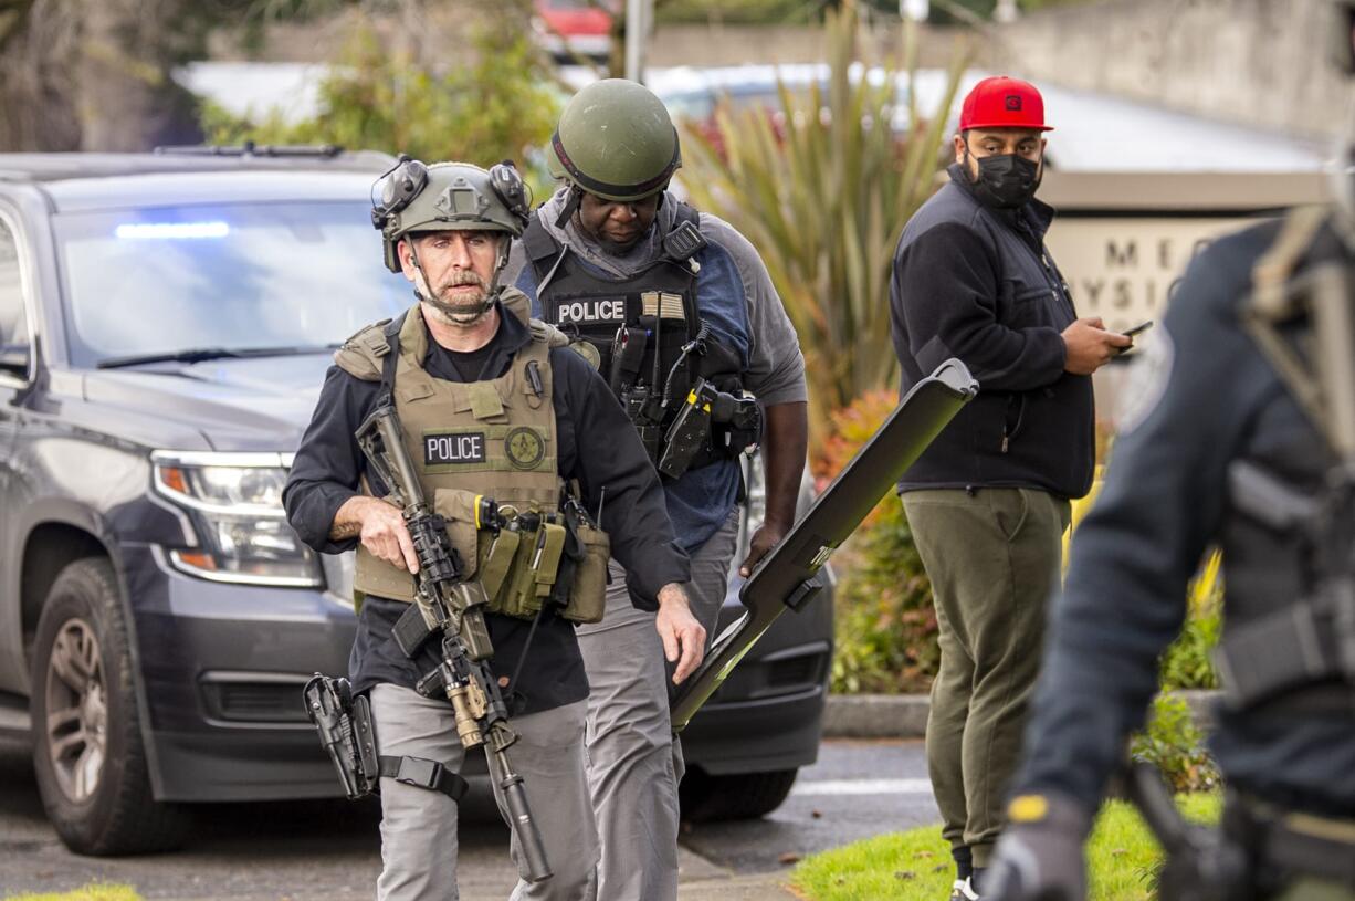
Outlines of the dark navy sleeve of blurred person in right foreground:
M1127 390L1142 406L1127 412L1072 542L1019 791L1062 791L1095 809L1144 722L1157 657L1222 522L1228 463L1278 387L1236 314L1260 249L1244 233L1202 255L1134 363Z

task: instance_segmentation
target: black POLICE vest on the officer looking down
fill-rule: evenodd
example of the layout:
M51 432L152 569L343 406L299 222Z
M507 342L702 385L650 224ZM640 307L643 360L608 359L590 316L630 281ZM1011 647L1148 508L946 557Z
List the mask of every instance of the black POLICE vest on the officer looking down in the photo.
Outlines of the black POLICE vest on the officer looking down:
M707 241L691 206L678 205L678 224L664 237L663 252L629 278L591 271L550 234L539 213L522 241L537 276L542 318L596 350L599 373L656 463L679 440L673 424L688 398L696 402L691 392L698 379L725 396L744 397L738 351L713 337L701 320L696 255ZM684 469L736 457L759 438L760 419L756 429L713 420L705 435L692 439L699 447Z

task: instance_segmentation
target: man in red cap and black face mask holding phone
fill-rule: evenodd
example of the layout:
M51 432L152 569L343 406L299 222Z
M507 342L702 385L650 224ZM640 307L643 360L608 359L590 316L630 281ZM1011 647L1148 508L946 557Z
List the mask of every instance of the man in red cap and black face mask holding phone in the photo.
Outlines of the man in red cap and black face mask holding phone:
M908 222L890 282L901 390L950 356L981 385L898 482L940 631L927 761L958 901L982 892L1069 499L1091 486L1091 374L1130 344L1077 317L1045 248L1054 210L1035 190L1049 130L1034 85L974 85L950 183Z

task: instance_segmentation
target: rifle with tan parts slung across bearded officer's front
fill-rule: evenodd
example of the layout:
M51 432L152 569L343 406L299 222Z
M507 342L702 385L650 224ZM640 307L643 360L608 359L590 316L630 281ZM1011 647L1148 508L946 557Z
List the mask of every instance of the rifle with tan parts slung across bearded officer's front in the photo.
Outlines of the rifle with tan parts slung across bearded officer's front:
M442 637L442 663L419 682L419 692L432 696L442 691L451 700L462 747L485 749L489 774L503 791L508 826L527 868L523 878L549 879L550 863L531 818L522 776L508 761L508 748L518 741L518 733L508 725L508 707L489 669L495 653L485 625L489 598L478 581L461 577L462 565L447 539L447 524L424 497L394 406L378 408L358 428L356 438L373 472L390 492L389 499L404 512L419 556L415 603L428 627Z

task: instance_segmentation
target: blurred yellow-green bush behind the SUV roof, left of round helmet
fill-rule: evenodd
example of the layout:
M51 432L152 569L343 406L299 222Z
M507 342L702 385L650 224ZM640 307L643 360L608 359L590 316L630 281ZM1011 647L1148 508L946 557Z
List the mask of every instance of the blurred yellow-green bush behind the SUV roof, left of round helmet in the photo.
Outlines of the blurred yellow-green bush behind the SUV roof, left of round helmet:
M434 69L358 28L320 85L316 118L287 123L272 112L255 122L206 104L202 127L214 144L337 144L481 165L512 159L542 196L542 148L564 104L547 60L527 33L495 23L472 27L469 46L455 50Z

